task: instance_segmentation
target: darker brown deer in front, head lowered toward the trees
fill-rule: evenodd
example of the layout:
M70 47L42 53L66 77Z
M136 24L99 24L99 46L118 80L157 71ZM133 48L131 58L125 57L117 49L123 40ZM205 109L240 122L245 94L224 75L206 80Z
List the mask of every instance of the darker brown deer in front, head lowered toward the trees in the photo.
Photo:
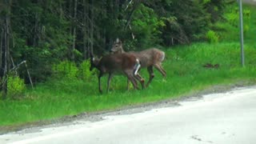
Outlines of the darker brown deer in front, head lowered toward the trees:
M126 77L132 82L134 89L138 89L136 79L141 82L142 89L144 89L144 79L138 74L141 64L134 56L134 54L108 54L102 58L94 58L90 54L90 70L93 68L99 70L98 74L98 90L102 94L101 77L103 74L108 73L107 92L110 89L110 81L114 74L125 74Z

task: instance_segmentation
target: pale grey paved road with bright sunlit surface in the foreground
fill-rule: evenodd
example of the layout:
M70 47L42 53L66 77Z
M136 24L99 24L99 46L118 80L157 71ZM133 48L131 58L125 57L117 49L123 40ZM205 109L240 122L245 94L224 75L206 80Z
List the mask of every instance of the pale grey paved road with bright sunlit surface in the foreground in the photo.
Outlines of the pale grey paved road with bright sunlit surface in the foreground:
M256 86L208 94L180 106L102 121L23 130L0 135L0 143L162 144L256 142Z

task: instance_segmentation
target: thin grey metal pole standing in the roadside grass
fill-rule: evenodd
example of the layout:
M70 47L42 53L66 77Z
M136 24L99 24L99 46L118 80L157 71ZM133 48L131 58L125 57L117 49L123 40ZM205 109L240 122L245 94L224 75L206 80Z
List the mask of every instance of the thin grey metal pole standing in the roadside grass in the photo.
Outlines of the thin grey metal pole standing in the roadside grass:
M245 56L243 50L243 22L242 22L242 0L238 0L239 4L239 20L240 20L240 45L241 45L241 63L245 66Z

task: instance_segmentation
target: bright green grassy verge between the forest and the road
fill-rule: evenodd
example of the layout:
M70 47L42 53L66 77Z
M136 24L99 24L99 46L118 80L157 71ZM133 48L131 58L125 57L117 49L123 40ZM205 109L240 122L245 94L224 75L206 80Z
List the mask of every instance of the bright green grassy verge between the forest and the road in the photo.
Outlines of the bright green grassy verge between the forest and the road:
M163 63L167 78L154 70L156 76L146 90L126 91L126 78L115 76L109 94L106 94L106 77L102 78L104 94L98 93L96 76L90 81L63 80L46 82L27 90L20 100L0 100L0 126L20 125L64 115L116 109L122 106L194 94L216 85L253 85L256 83L256 44L253 41L256 25L256 10L251 6L249 30L245 34L246 67L240 64L238 28L228 23L219 23L226 29L219 33L222 42L215 44L194 43L190 46L175 46L166 49ZM204 68L206 63L218 64L218 69ZM146 70L142 75L148 79Z

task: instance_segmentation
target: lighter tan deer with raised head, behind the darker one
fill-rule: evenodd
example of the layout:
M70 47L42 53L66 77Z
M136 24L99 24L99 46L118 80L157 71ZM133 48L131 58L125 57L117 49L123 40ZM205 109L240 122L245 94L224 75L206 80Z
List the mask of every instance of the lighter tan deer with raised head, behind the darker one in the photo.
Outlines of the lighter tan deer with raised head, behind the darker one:
M162 50L151 48L148 50L126 53L122 48L122 42L117 38L110 51L114 54L134 54L141 62L142 68L147 67L150 74L150 79L146 83L146 87L149 86L150 82L154 78L153 66L162 74L163 77L166 77L166 70L162 68L162 61L165 58L165 52Z

